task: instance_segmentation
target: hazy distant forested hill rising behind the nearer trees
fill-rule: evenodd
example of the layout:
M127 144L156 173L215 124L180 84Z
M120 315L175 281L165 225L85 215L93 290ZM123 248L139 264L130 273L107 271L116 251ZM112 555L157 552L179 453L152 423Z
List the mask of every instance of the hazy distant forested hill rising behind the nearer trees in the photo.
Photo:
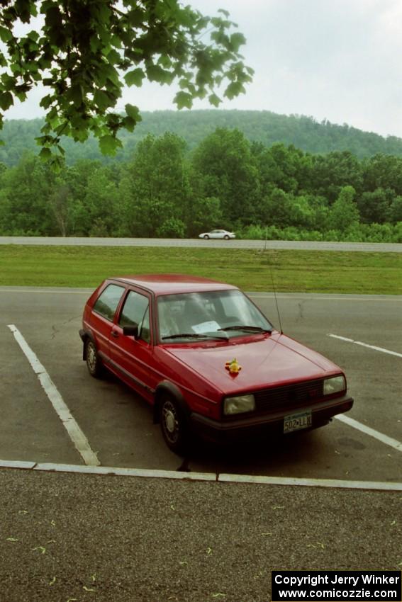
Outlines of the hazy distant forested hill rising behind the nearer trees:
M35 136L39 135L42 120L6 120L1 139L6 143L0 147L0 161L7 166L15 165L25 150L38 152ZM362 159L374 154L402 156L402 139L382 137L372 132L363 132L348 125L335 125L328 121L318 123L303 115L278 115L270 111L257 110L191 110L155 111L143 113L143 122L135 132L122 132L124 148L116 159L125 161L133 153L138 140L148 133L157 136L173 132L186 140L188 148L194 149L203 138L216 130L216 127L238 128L250 141L262 142L270 147L274 142L294 144L305 152L325 154L331 151L348 150ZM77 159L101 159L110 162L99 152L98 142L88 140L85 144L75 144L64 139L67 161Z

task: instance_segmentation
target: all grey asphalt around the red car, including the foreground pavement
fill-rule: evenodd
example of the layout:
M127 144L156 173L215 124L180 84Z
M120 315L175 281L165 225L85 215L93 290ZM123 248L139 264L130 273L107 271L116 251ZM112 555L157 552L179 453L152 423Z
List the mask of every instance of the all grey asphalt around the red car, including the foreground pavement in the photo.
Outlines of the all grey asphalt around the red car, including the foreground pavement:
M0 470L1 601L257 602L269 599L274 568L401 566L402 297L279 293L286 334L345 369L352 421L181 458L164 445L145 402L112 377L87 374L78 329L88 296L1 288L0 460L85 464L14 326L101 467L206 473L211 480ZM252 297L278 324L272 295ZM280 484L216 482L223 475ZM280 479L325 479L333 487L290 487ZM337 489L340 480L367 482L367 489ZM395 491L370 491L373 482Z

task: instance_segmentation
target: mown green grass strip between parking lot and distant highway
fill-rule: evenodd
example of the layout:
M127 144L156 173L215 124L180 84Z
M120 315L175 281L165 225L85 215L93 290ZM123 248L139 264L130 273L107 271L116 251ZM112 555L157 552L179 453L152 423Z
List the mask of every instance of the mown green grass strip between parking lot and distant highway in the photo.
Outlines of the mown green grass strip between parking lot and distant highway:
M188 273L243 290L402 294L402 254L1 245L0 285L92 288L109 276ZM273 280L272 280L273 279Z

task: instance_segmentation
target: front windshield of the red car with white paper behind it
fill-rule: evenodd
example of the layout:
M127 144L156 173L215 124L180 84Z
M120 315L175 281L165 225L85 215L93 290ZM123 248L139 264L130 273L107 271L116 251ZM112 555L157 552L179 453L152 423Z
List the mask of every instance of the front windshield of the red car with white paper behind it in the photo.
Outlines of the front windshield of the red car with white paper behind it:
M273 328L240 290L162 295L157 311L160 340L167 343L225 340Z

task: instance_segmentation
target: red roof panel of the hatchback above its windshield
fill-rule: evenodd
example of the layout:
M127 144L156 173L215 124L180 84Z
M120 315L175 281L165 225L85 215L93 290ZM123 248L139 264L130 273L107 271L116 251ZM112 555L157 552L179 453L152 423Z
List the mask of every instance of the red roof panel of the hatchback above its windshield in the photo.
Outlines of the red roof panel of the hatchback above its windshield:
M206 290L236 290L231 284L190 276L189 274L138 274L133 276L116 276L108 278L128 285L140 286L155 295L171 295L172 293L201 293Z

